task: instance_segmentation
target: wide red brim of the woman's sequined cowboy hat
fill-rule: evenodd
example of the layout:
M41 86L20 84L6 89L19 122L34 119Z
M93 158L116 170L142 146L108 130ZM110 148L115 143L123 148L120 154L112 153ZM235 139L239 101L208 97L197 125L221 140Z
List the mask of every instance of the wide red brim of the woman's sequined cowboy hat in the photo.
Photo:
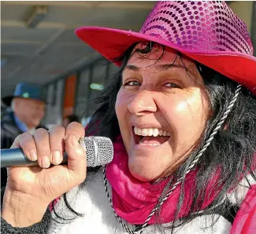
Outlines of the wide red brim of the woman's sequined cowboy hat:
M222 75L247 86L256 95L256 57L237 52L184 49L173 42L167 42L165 39L135 31L106 27L80 27L75 32L83 42L86 42L112 62L121 57L136 42L158 42L163 46L176 49L187 57L191 57ZM121 62L116 64L120 66Z

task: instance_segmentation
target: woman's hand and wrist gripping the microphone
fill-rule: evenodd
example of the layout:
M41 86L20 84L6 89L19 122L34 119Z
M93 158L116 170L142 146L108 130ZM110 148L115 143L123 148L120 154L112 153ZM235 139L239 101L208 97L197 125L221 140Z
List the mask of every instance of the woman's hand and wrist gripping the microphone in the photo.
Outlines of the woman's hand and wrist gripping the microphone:
M84 137L83 126L72 122L66 129L54 126L49 131L39 129L33 136L23 133L15 139L11 148L22 148L28 159L38 160L39 166L8 168L2 204L2 217L6 221L15 226L40 221L52 200L84 181L87 161L86 152L79 144L80 137ZM64 152L69 155L68 165L58 165ZM50 163L56 166L50 166ZM33 216L28 217L29 213Z

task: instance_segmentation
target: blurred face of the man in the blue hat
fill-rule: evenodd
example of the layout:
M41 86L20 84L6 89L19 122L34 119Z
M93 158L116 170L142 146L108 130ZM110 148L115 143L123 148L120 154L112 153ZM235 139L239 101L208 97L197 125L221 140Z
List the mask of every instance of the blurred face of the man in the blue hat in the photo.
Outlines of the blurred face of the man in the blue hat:
M16 98L15 112L29 128L39 126L43 119L45 104L34 99Z

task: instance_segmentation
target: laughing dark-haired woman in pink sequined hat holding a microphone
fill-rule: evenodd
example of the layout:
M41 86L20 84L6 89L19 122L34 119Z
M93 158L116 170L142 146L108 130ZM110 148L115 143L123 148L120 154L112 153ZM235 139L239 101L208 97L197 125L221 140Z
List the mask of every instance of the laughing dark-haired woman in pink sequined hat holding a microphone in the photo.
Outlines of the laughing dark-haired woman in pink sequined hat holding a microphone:
M121 65L85 133L112 139L113 162L86 172L78 123L20 135L13 148L39 167L9 168L3 233L254 233L256 59L243 22L224 2L158 2L139 33L76 34Z

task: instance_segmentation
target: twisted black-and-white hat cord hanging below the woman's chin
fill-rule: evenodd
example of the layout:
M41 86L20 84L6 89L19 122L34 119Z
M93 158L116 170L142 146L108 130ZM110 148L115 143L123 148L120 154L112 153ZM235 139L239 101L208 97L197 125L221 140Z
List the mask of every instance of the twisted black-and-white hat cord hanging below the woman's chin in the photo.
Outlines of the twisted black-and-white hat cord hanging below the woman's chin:
M184 178L187 176L187 174L189 174L191 172L191 170L194 169L195 165L198 163L200 157L202 156L203 152L206 151L206 149L208 148L208 146L210 145L211 141L213 141L213 137L217 134L217 131L220 130L222 124L224 123L225 119L227 119L228 114L232 111L232 108L234 106L234 104L236 103L237 97L239 96L239 91L241 90L242 86L239 85L236 87L236 91L235 91L235 95L232 98L232 101L228 104L228 107L226 109L226 111L224 112L223 116L221 117L220 122L218 122L217 126L215 127L215 129L213 130L213 132L210 134L210 137L208 138L208 140L206 141L206 144L203 146L203 148L198 152L198 155L195 156L195 159L190 163L190 165L187 167L186 172L184 173L184 175L182 177L180 177L176 183L173 185L173 188L171 188L169 190L169 192L166 193L165 197L161 200L161 203L159 203L158 206L154 207L154 209L151 211L150 215L148 216L147 220L144 222L144 224L141 226L141 229L139 229L138 231L134 232L131 229L128 228L127 225L124 224L124 222L121 220L121 218L117 215L116 211L113 209L113 203L112 203L112 199L109 196L109 192L108 192L108 188L107 188L107 181L106 181L106 166L104 166L103 168L103 178L104 178L104 185L105 185L105 191L106 191L106 196L109 199L109 203L113 209L113 213L115 214L115 216L117 217L117 221L119 221L122 225L122 227L124 228L124 230L126 232L128 232L129 234L135 234L135 233L143 233L143 230L147 227L148 222L150 221L150 218L152 218L152 216L155 214L155 212L158 210L159 207L161 207L161 205L165 202L166 199L169 198L170 194L173 192L173 190L180 185L180 182L184 180Z

